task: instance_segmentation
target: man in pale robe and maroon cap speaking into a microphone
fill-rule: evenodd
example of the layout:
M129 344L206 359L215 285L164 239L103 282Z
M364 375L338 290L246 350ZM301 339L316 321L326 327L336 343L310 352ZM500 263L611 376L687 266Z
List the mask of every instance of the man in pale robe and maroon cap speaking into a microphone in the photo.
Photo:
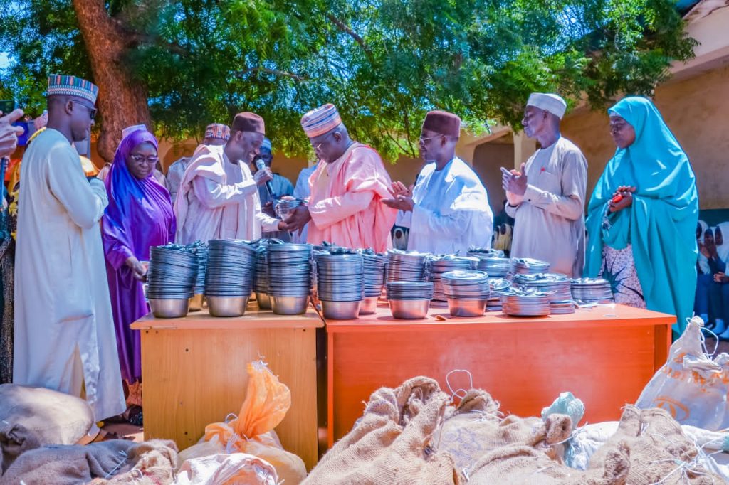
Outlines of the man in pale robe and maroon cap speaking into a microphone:
M198 147L174 204L176 242L256 240L261 232L285 228L283 221L261 212L258 186L273 178L270 170L253 176L249 168L264 135L260 116L239 113L225 145Z

